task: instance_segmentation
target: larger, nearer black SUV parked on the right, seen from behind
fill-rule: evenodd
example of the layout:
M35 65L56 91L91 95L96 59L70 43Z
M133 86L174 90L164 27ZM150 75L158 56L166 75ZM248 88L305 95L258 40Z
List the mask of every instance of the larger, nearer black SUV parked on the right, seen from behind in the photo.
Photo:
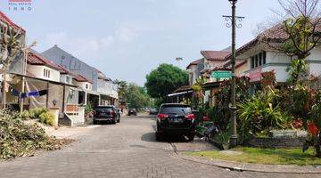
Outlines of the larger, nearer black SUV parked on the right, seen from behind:
M163 135L185 135L193 141L196 122L189 105L162 104L156 122L156 140L160 141Z

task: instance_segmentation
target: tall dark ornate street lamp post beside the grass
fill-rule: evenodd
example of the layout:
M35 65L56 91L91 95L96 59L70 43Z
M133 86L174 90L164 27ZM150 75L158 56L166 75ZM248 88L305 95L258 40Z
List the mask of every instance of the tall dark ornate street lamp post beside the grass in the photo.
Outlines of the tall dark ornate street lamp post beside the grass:
M232 27L232 106L231 106L231 122L232 122L232 136L230 139L230 146L233 148L237 145L237 130L236 130L236 75L235 75L235 61L236 61L236 54L235 54L235 35L236 35L236 28L241 28L241 24L236 24L236 20L242 21L244 17L236 16L235 9L237 0L228 0L230 4L232 4L232 16L223 16L226 18L226 21L231 20L231 24L226 23L227 28Z

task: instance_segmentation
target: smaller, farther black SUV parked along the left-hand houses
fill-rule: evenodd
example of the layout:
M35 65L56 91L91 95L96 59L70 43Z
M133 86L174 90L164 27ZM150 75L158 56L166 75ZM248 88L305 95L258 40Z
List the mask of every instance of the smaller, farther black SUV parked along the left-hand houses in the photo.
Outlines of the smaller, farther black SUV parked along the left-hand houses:
M114 106L97 106L94 113L94 125L100 121L116 124L120 119L118 111Z

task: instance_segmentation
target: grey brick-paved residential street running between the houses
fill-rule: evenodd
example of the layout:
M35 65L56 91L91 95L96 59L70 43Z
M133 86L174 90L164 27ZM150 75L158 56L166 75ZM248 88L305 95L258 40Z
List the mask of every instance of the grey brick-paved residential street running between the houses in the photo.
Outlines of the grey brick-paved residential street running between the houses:
M235 172L183 161L174 156L169 142L155 142L153 125L151 117L122 117L117 125L89 127L84 134L78 132L78 142L63 150L1 162L0 177L321 177ZM197 142L173 144L177 150L202 150Z

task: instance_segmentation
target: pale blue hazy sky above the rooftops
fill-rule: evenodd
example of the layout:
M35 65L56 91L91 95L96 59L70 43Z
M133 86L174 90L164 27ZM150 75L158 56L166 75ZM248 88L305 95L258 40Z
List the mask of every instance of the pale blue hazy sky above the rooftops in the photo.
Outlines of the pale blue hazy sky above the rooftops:
M8 1L0 0L0 11L27 30L29 44L37 41L37 52L57 44L107 77L138 85L161 63L185 69L200 51L231 44L227 0L32 0L30 11L10 10ZM238 1L245 19L237 46L277 18L271 9L280 9L277 0Z

